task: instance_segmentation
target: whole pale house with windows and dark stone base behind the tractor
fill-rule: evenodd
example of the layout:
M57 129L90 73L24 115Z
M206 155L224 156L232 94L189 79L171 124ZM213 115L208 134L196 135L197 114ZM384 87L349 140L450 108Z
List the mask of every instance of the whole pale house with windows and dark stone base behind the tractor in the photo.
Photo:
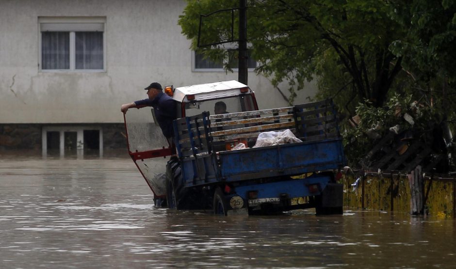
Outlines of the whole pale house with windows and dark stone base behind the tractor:
M0 150L102 155L125 148L120 105L146 98L151 82L237 79L189 48L177 24L185 4L0 0ZM267 78L248 81L261 109L287 106Z

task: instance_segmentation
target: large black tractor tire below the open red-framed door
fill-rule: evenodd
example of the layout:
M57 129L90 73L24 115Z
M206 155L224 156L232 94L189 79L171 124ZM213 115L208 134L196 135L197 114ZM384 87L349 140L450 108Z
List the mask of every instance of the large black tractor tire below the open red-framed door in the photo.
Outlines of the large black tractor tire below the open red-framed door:
M166 201L168 208L187 210L200 209L197 190L184 188L180 162L177 157L171 157L166 165Z

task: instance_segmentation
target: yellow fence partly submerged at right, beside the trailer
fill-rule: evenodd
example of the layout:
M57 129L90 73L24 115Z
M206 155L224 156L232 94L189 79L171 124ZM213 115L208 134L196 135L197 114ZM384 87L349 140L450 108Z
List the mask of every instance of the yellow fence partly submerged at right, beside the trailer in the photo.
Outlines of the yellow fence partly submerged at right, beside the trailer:
M344 175L341 180L344 206L423 213L440 218L456 217L456 178L449 175L425 174L420 186L415 186L413 178L399 171L381 174L358 172ZM418 192L421 192L421 198ZM419 199L423 206L414 208Z

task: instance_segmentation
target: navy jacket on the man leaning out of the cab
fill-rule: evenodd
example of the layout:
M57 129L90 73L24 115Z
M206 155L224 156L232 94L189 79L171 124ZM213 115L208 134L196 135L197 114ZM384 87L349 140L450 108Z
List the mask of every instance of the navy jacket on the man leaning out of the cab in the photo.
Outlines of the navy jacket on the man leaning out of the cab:
M134 101L136 106L153 107L158 125L166 138L174 136L173 120L176 119L176 101L164 93L160 93L153 100L143 99Z

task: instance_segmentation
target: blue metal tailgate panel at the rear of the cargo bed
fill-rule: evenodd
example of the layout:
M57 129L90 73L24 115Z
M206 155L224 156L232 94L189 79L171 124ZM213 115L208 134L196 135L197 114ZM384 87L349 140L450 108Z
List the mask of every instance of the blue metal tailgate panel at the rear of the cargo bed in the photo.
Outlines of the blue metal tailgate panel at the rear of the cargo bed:
M238 181L335 169L342 164L340 144L339 139L327 139L223 151L221 177Z

